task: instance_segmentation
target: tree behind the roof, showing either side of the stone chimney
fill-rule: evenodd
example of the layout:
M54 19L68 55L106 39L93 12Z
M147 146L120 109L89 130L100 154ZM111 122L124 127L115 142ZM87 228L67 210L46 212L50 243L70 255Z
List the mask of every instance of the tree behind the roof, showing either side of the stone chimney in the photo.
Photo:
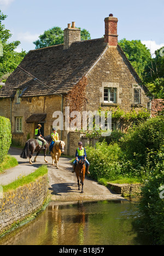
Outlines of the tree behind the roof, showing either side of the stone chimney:
M81 30L81 40L87 39L91 39L89 31ZM40 34L39 39L33 43L36 45L36 49L40 49L51 45L63 44L63 42L64 32L61 27L52 27L43 34Z

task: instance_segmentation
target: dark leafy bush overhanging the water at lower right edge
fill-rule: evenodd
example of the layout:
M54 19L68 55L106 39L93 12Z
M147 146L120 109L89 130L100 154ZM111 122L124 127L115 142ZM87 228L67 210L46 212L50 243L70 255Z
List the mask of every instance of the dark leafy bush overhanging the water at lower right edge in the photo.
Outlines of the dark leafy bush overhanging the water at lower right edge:
M156 166L145 181L140 200L142 224L156 244L164 244L164 145L156 157Z

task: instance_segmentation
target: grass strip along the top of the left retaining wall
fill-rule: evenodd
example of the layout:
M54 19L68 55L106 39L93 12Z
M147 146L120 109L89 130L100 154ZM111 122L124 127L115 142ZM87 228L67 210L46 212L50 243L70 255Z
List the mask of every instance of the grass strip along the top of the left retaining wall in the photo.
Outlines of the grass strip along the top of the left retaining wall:
M29 174L28 176L20 176L18 179L16 179L16 181L2 186L3 192L15 190L16 188L22 187L25 184L34 182L37 178L44 176L46 173L48 173L48 167L46 165L42 165L35 172Z

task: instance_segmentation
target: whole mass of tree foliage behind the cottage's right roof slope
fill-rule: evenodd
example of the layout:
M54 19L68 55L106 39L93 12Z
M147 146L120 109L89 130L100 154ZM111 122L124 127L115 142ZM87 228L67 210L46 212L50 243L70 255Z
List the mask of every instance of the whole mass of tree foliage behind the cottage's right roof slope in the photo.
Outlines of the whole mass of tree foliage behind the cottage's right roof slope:
M119 45L155 98L164 98L164 48L156 50L153 58L140 40L128 41L124 38Z

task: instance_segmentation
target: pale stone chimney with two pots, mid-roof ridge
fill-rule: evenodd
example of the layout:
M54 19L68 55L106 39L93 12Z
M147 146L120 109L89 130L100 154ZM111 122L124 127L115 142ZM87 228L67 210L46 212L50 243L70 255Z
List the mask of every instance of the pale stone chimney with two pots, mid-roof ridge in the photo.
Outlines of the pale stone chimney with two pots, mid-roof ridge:
M72 43L81 40L81 30L75 27L75 22L68 24L68 27L64 30L64 50L69 49Z

